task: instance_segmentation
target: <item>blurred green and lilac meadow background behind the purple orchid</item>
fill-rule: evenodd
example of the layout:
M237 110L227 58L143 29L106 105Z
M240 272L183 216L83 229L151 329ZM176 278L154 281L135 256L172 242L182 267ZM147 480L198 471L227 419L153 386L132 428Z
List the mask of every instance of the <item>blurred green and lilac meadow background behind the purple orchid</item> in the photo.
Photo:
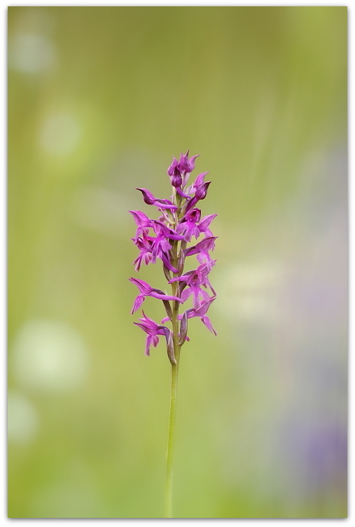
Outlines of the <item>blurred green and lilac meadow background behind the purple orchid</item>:
M187 149L218 336L190 322L174 515L346 516L347 8L10 7L8 68L8 516L163 514L127 211Z

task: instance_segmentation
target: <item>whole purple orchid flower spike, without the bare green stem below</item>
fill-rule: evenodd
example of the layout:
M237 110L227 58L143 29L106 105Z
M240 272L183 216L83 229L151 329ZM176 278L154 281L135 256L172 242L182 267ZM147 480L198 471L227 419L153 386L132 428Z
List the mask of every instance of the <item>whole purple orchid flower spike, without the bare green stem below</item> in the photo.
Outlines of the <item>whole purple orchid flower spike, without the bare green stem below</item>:
M216 265L212 259L211 251L214 250L216 236L211 231L211 222L216 214L209 214L201 219L201 210L195 205L204 200L211 182L204 182L208 172L198 174L195 181L186 186L190 173L195 169L195 160L198 156L189 158L189 151L181 153L179 160L175 157L167 169L171 184L171 196L168 199L158 199L148 189L139 189L146 205L158 207L159 217L151 219L145 212L131 210L137 231L132 238L134 245L139 249L139 255L134 260L135 270L139 271L142 263L155 263L162 261L165 278L172 287L171 294L161 289L151 287L144 280L130 278L137 285L139 295L134 300L131 313L139 310L146 296L161 300L167 317L162 324L172 322L172 329L154 322L143 313L139 322L134 322L146 334L146 355L149 355L151 345L156 347L160 336L165 336L167 341L167 355L172 364L179 361L180 348L189 341L188 319L200 317L209 331L216 334L207 310L216 299L216 291L209 282L209 273ZM200 241L198 239L202 236ZM192 238L197 240L194 245L188 246ZM189 262L188 256L196 255L200 264L193 271L185 271L185 263ZM209 295L209 292L213 296ZM188 308L183 314L179 313L181 303L193 297L193 308Z

